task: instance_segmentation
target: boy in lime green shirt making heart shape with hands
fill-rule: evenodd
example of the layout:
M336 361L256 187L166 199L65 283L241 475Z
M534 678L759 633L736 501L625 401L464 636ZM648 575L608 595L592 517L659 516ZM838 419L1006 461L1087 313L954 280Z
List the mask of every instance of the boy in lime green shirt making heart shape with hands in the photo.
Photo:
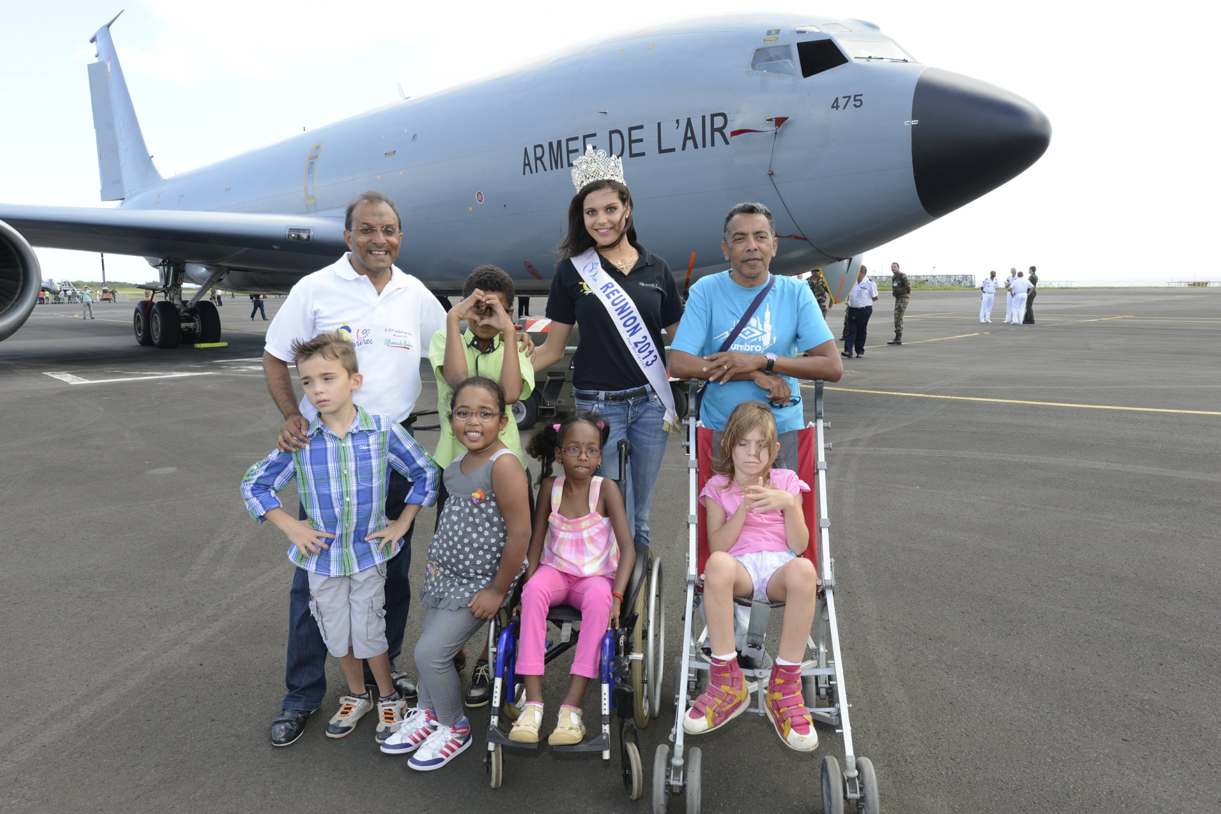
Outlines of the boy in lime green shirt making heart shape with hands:
M507 405L527 398L534 391L534 365L530 364L525 351L518 348L516 326L509 316L514 295L513 278L497 266L480 266L466 277L462 294L463 300L446 315L444 331L432 334L429 345L429 359L437 377L437 412L441 419L441 442L432 458L442 471L466 450L454 437L447 420L449 395L454 387L470 376L486 376L504 388ZM466 320L465 333L459 331L462 320ZM505 349L510 353L505 353ZM501 441L526 467L529 483L530 467L526 466L518 425L512 415L501 431ZM447 497L442 478L441 492L437 495L438 521ZM466 648L454 658L454 665L459 671L466 665ZM491 701L491 671L485 644L482 654L475 661L475 672L471 675L470 688L463 702L468 707L484 707Z

